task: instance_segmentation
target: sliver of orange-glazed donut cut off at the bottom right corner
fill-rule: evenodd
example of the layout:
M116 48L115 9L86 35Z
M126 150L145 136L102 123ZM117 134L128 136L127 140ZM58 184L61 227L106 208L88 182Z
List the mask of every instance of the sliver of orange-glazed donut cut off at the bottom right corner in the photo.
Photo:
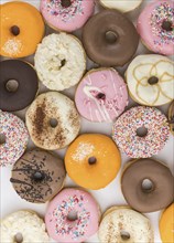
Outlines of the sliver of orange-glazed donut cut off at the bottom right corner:
M174 239L174 203L162 213L160 219L160 234L163 243L173 243Z

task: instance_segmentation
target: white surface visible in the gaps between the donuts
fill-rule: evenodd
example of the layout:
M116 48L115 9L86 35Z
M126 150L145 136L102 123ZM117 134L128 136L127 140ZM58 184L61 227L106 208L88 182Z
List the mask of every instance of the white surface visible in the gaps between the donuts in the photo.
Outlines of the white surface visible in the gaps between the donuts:
M2 2L4 2L4 1L2 1ZM28 2L39 7L40 1L28 1ZM148 1L148 3L150 1ZM143 4L146 4L146 2L144 2ZM101 9L101 7L99 7L99 8ZM128 13L127 14L128 18L130 18L134 21L137 19L137 17L139 15L139 12L142 8L143 8L143 6L141 6L139 10L135 10L132 13ZM50 28L47 28L46 33L51 33L51 32L53 32L53 31ZM80 38L80 31L77 31L75 34ZM140 46L138 49L137 54L138 53L150 53L150 52L144 46L142 46L142 44L140 43ZM24 60L30 60L31 63L33 63L33 57L24 59ZM96 64L88 61L88 70L90 67L96 67L96 66L97 66ZM121 67L121 68L117 68L117 70L121 74L123 74L126 66ZM43 85L40 85L40 93L41 93L41 91L44 91L44 89L46 89L46 88L43 87ZM63 93L73 98L74 92L75 92L75 88L69 88ZM131 107L132 105L134 105L134 103L132 101L130 101L127 109L129 107ZM167 108L168 108L167 105L159 107L159 109L161 109L165 114L167 114ZM19 115L20 117L24 118L24 112L25 110L22 110L22 112L15 113L15 114ZM81 119L80 133L101 133L101 134L106 134L106 135L110 136L111 135L111 127L112 127L111 124L105 124L105 123L104 124L94 124L94 123L89 123L85 119ZM174 172L173 145L174 145L174 138L171 135L170 140L166 144L165 148L157 156L154 156L154 158L157 158L159 160L165 162L170 167L170 169ZM29 147L31 147L31 148L34 147L31 141L30 141ZM59 150L56 152L59 155L61 158L64 158L65 150ZM122 156L122 166L123 166L127 161L129 161L129 158L127 158L126 155L123 155L123 154L121 156ZM0 173L1 173L1 177L0 177L1 218L3 218L3 216L6 216L17 210L20 210L20 209L32 209L32 210L36 211L37 213L40 213L41 215L44 215L47 203L33 204L33 203L30 203L30 202L22 200L15 193L15 191L12 188L11 182L9 181L9 179L11 177L11 168L12 167L7 167L7 168L0 169ZM121 175L121 170L120 170L119 175L117 176L117 178L105 189L98 190L98 191L90 191L91 194L98 201L102 212L105 212L111 205L127 204L127 202L124 201L124 198L121 193L121 190L120 190L120 175ZM65 182L65 187L69 187L69 186L72 187L72 186L76 186L76 184L67 177L66 182ZM155 243L161 243L160 234L159 234L160 214L161 214L161 211L146 214L146 216L151 220L153 228L154 228L154 242ZM95 242L95 243L98 242L97 234L94 235L91 239L89 239L86 242Z

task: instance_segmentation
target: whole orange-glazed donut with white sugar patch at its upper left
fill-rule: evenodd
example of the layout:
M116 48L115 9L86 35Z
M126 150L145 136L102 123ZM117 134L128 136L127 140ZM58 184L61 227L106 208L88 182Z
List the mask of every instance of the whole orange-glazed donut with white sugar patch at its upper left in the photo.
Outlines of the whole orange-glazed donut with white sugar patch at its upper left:
M100 134L80 135L67 149L65 167L80 187L101 189L117 176L121 157L115 142Z

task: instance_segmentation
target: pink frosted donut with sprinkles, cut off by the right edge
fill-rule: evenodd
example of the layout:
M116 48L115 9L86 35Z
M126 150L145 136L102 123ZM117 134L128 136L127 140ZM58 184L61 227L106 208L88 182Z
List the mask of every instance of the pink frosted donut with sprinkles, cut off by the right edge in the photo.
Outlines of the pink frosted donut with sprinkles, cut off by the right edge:
M154 1L146 6L138 19L138 32L151 51L174 54L174 2Z

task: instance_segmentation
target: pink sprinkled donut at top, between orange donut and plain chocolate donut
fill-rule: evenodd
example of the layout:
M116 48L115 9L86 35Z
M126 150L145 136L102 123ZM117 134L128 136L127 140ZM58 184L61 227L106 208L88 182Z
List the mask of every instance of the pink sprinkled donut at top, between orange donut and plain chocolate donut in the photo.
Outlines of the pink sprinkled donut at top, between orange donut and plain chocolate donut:
M47 24L67 32L81 28L94 9L94 0L41 0L41 12Z

